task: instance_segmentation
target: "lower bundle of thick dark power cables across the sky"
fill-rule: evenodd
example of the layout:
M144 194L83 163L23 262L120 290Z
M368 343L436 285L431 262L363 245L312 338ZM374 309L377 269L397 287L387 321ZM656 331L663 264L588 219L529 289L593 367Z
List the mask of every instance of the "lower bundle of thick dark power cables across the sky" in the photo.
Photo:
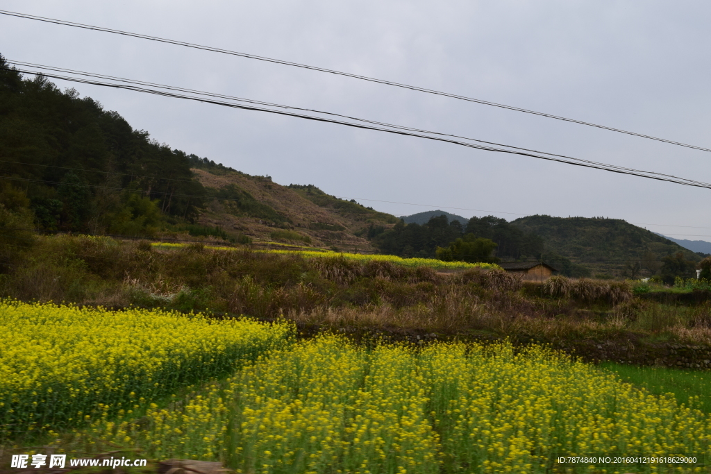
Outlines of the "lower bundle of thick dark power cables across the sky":
M444 141L445 143L466 146L469 148L479 149L479 150L483 150L483 151L496 151L498 153L509 153L509 154L515 154L515 155L520 155L520 156L529 156L531 158L539 158L539 159L547 160L547 161L555 161L558 163L566 163L566 164L570 164L570 165L574 165L574 166L582 166L584 168L593 168L593 169L599 169L599 170L603 170L603 171L610 171L612 173L627 174L627 175L631 175L631 176L639 176L641 178L654 179L657 181L667 181L669 183L688 185L688 186L693 186L693 187L697 187L697 188L711 189L710 183L704 183L701 181L694 181L694 180L690 180L687 178L679 178L679 177L673 176L673 175L666 175L663 173L656 173L653 171L635 170L632 168L623 168L621 166L609 165L606 163L599 163L599 162L589 161L589 160L583 160L581 158L569 158L569 157L565 157L567 159L558 158L557 155L554 155L552 153L545 153L548 156L542 156L542 154L537 154L537 153L544 153L544 152L529 153L528 151L520 151L521 149L516 149L513 146L510 147L510 148L512 148L510 150L500 149L500 148L496 148L493 146L482 146L482 145L478 145L478 144L467 143L464 141L443 138L442 136L428 136L428 135L424 135L422 133L415 133L414 131L407 131L407 130L405 130L405 127L401 127L401 126L395 126L395 127L397 127L396 129L383 128L383 126L369 126L369 125L363 125L363 124L356 124L353 122L343 122L342 120L327 119L324 117L316 117L313 115L300 114L300 113L294 113L294 112L286 112L283 110L265 109L263 107L255 107L252 105L247 106L247 105L235 104L235 103L230 103L230 102L222 102L222 101L218 101L218 100L214 100L214 99L206 99L204 97L193 97L193 96L187 96L187 95L180 95L180 94L176 94L173 92L165 92L165 91L161 91L161 90L146 89L144 87L136 87L133 85L120 85L120 84L107 83L107 82L97 82L94 80L85 80L85 79L81 79L81 78L77 78L77 77L67 77L67 76L46 74L43 72L34 72L34 71L26 71L26 70L15 70L15 71L25 73L25 74L43 76L43 77L53 77L55 79L68 80L70 82L80 82L82 84L99 85L102 87L113 87L116 89L132 90L134 92L144 92L147 94L160 95L160 96L164 96L164 97L173 97L173 98L178 98L178 99L188 99L188 100L193 100L196 102L205 102L208 104L221 105L223 107L232 107L235 109L250 110L250 111L255 111L255 112L268 112L268 113L272 113L272 114L284 115L287 117L296 117L296 118L300 118L300 119L313 120L315 122L339 124L339 125L351 126L353 128L358 128L358 129L384 131L384 132L390 133L390 134L397 134L397 135L403 135L403 136L414 136L414 137L424 138L424 139L429 139L429 140L434 140L434 141ZM437 134L437 132L424 132L424 133ZM506 146L506 145L503 145L503 146ZM569 160L574 160L574 161L569 161Z

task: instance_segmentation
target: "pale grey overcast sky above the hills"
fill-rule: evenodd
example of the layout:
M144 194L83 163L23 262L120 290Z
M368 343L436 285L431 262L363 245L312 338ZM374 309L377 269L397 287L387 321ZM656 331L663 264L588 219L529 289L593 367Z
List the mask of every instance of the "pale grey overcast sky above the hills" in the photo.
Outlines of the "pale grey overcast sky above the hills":
M711 148L708 1L9 0L0 9L379 77ZM176 45L0 16L0 53L711 181L710 152ZM395 215L441 208L508 220L605 216L711 241L707 189L55 82L97 99L171 148L280 184L314 184Z

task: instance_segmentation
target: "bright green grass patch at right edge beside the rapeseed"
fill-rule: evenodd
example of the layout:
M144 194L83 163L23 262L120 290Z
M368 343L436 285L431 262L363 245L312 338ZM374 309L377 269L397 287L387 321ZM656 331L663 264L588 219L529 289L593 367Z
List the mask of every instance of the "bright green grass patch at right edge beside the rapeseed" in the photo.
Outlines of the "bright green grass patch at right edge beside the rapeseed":
M602 362L600 367L616 373L624 382L646 388L651 394L673 393L679 403L711 413L710 371L638 367L614 362Z

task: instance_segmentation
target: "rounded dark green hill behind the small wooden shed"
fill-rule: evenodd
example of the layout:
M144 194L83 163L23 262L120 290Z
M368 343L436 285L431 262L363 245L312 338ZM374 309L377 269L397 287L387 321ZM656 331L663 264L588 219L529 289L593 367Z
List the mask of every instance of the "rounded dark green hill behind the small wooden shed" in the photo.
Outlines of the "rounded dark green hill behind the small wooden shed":
M523 232L540 236L545 252L567 257L591 269L593 274L655 274L665 257L680 252L682 261L678 266L683 266L680 274L690 277L692 262L702 258L666 237L619 219L531 215L510 223Z

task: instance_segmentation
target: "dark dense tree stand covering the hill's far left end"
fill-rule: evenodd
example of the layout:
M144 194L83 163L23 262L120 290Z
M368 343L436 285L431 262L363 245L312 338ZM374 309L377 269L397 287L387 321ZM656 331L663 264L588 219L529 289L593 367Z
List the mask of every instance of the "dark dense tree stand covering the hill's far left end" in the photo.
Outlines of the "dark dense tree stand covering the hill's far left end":
M0 56L0 68L7 68ZM205 195L186 153L75 90L0 70L0 185L21 189L39 230L140 232L196 217Z

